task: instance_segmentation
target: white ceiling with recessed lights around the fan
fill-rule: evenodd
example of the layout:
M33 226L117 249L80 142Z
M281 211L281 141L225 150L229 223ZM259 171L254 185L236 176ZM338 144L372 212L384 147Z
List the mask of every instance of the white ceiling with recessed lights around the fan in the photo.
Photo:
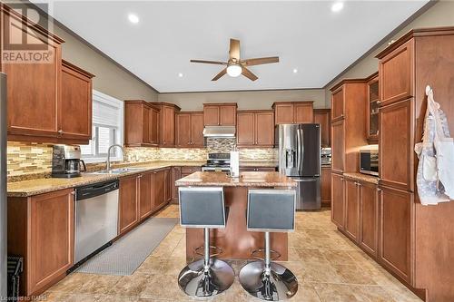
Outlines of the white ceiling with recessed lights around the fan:
M52 1L50 14L160 93L203 92L323 87L427 2L347 1L333 13L333 1ZM226 61L231 37L243 59L281 62L252 66L255 82L212 82L221 65L189 63Z

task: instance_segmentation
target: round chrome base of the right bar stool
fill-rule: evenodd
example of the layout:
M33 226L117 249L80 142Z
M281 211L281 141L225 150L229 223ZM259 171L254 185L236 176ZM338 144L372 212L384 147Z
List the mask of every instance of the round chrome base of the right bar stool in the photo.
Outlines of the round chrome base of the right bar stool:
M293 273L280 264L271 262L266 274L265 262L254 261L240 271L242 287L253 297L265 301L281 301L293 297L298 291L298 281Z

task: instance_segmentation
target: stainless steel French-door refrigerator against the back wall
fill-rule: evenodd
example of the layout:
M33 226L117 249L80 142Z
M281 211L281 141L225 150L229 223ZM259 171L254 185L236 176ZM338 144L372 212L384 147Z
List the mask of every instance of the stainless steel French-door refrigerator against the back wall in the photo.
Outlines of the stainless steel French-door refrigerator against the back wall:
M320 124L276 126L279 171L298 182L296 209L321 208Z

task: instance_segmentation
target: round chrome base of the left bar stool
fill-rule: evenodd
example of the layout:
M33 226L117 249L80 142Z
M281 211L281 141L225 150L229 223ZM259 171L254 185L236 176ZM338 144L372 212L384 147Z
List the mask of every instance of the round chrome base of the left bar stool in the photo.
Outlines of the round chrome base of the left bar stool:
M188 296L213 297L231 287L234 278L233 268L227 262L210 258L210 266L205 269L201 259L183 268L178 285Z

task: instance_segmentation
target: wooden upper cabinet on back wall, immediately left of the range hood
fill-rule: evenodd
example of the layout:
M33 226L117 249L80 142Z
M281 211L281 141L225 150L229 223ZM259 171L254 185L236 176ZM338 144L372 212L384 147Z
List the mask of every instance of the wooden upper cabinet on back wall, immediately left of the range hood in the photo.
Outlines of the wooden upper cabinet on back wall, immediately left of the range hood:
M203 146L202 112L176 114L175 144L183 148Z

